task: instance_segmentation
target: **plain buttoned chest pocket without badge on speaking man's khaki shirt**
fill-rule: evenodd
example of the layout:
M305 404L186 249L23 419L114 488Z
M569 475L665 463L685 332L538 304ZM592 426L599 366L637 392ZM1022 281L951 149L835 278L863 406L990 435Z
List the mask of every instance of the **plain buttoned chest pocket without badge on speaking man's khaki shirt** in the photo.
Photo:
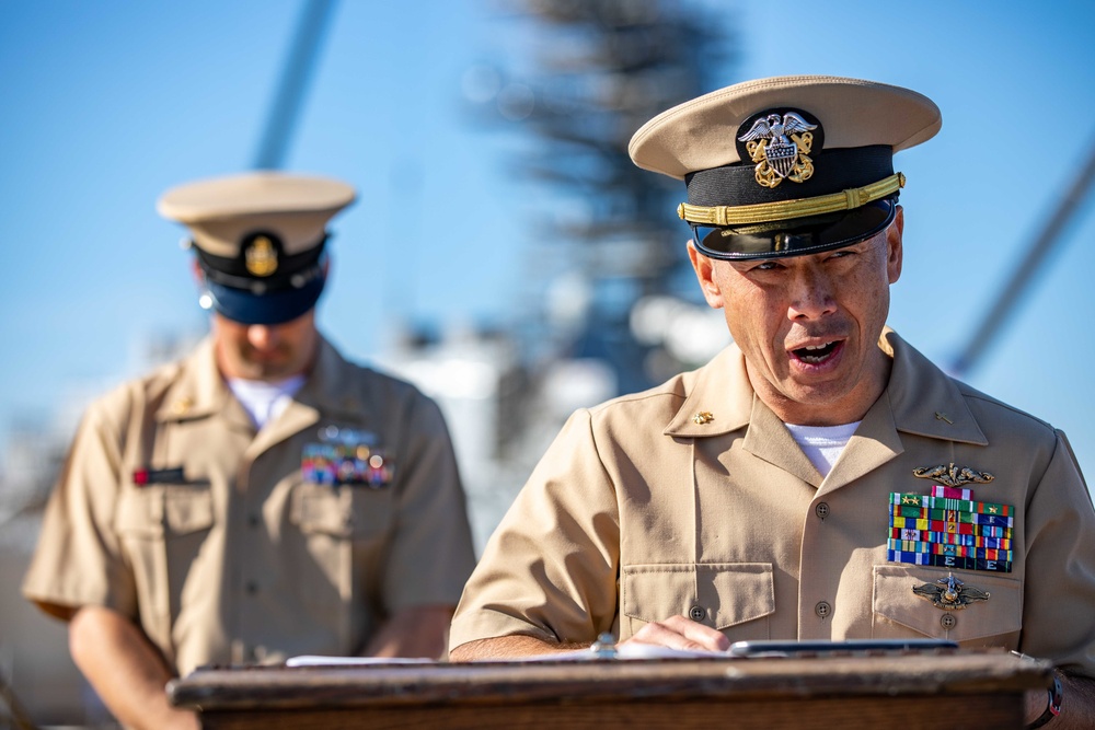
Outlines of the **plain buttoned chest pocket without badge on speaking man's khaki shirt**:
M620 592L627 636L650 622L683 615L734 641L770 638L769 616L775 613L770 563L624 566Z

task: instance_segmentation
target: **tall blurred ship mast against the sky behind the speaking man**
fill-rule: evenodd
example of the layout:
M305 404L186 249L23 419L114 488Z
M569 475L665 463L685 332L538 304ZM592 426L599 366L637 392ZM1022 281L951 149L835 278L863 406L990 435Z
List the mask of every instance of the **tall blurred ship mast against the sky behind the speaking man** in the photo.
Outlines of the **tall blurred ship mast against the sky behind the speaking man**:
M578 279L588 298L573 326L549 323L546 338L534 339L553 343L554 357L603 360L618 392L646 387L680 363L636 339L632 310L643 298L691 299L695 285L683 252L688 231L675 215L683 186L636 167L627 143L658 113L729 83L725 22L673 0L507 7L534 23L535 70L499 82L474 111L483 124L521 125L530 151L515 167L546 193L542 219L529 227L539 258L569 264L568 280Z

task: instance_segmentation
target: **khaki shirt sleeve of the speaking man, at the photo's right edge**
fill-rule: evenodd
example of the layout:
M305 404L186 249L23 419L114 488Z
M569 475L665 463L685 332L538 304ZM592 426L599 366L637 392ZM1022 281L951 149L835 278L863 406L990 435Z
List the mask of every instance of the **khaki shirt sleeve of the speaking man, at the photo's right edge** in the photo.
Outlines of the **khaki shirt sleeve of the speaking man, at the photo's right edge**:
M1095 677L1095 509L1064 433L1026 520L1024 653Z

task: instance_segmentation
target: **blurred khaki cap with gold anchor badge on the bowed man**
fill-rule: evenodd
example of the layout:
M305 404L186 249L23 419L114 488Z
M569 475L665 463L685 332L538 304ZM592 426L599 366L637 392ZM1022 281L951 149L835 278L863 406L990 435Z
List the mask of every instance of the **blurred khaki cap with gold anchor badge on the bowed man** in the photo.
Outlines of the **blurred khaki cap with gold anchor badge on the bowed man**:
M209 305L244 324L280 324L319 300L327 222L355 195L337 179L263 171L173 187L157 210L189 230Z

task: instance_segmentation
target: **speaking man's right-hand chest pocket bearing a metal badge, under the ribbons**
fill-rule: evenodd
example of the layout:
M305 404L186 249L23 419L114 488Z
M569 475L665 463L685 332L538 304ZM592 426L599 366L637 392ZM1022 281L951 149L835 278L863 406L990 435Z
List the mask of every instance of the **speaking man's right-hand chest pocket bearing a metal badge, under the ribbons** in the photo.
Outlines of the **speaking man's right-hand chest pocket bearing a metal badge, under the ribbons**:
M876 565L874 584L874 612L897 624L914 629L924 636L941 636L940 619L945 610L936 607L912 589L924 583L935 584L947 572L914 565ZM956 641L970 641L987 636L1012 634L1023 627L1023 584L1014 578L1003 578L988 572L961 571L956 573L963 582L989 594L986 601L970 603L955 612L960 619L949 629L947 637Z

